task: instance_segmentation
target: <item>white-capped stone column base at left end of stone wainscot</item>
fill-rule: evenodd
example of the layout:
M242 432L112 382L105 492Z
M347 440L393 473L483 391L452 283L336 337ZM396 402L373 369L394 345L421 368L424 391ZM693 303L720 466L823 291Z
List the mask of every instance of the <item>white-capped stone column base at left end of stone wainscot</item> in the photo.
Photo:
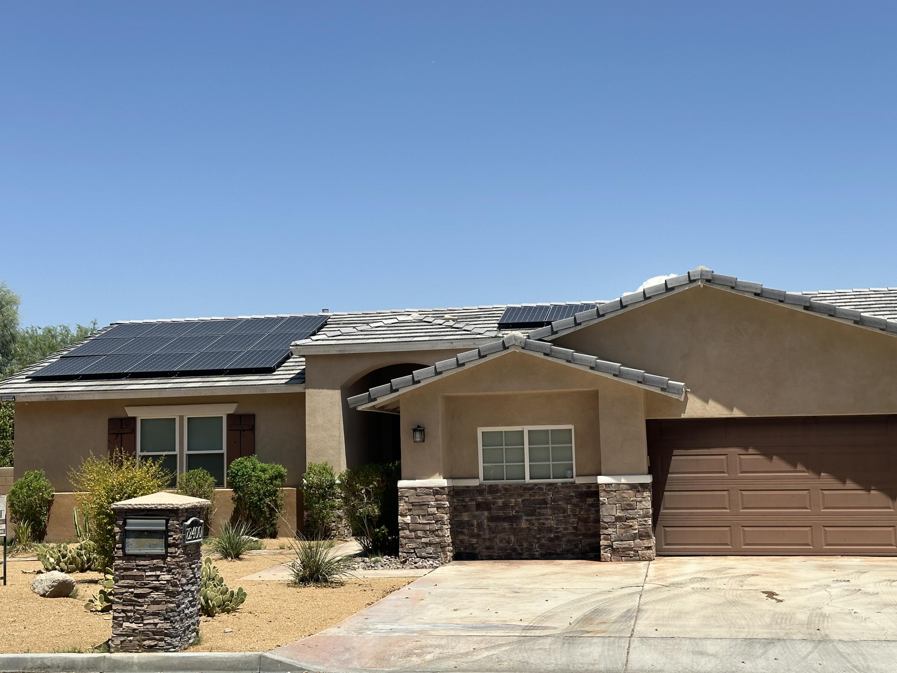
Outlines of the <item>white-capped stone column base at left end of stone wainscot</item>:
M445 479L398 483L399 559L451 561L451 489Z

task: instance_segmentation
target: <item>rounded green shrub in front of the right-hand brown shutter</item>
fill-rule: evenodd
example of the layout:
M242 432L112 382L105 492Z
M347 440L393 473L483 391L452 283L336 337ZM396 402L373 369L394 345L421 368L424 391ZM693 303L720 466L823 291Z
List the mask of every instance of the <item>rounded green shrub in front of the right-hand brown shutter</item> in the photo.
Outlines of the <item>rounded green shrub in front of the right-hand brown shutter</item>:
M263 463L255 456L238 458L227 470L234 514L238 520L246 521L260 538L277 537L277 522L283 511L280 489L285 481L283 465Z

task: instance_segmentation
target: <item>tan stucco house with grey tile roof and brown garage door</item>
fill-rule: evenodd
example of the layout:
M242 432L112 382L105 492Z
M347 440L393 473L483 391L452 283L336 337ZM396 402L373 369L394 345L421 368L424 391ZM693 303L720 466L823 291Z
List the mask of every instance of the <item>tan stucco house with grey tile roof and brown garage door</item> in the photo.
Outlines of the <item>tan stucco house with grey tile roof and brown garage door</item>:
M293 486L401 459L403 555L897 555L897 288L699 267L610 302L319 318L265 371L40 377L83 342L4 380L16 475L67 490L107 446L222 485L251 452Z

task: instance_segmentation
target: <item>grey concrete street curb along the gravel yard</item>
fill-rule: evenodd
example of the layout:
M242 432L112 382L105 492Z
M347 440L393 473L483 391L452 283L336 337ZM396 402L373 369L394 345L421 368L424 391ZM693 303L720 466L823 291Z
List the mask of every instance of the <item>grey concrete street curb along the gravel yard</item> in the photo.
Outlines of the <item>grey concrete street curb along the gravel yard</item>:
M300 663L266 652L0 654L0 673L285 673Z

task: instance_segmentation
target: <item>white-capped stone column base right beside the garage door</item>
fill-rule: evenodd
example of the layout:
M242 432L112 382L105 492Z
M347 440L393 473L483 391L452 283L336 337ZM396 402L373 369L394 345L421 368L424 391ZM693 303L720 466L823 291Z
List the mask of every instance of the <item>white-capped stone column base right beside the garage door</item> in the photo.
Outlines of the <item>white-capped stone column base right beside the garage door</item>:
M653 561L650 476L598 477L601 560ZM632 480L641 478L641 483Z

